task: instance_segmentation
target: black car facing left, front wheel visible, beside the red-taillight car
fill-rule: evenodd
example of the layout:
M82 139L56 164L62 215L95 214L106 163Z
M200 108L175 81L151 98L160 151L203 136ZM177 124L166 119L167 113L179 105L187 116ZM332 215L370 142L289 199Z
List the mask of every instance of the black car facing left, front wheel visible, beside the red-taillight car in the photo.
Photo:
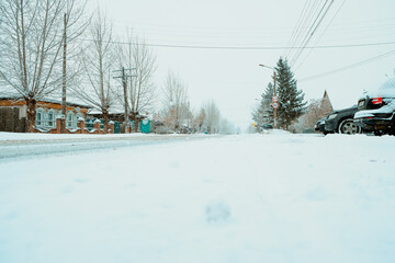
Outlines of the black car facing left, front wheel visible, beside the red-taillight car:
M357 111L357 105L334 111L327 117L316 123L315 130L323 132L324 134L360 134L362 129L352 119Z

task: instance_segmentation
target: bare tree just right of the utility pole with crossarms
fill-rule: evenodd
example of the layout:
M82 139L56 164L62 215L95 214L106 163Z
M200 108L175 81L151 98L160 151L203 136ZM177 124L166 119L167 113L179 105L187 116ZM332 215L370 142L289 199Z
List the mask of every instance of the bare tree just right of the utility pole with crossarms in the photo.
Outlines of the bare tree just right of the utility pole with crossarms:
M127 79L127 103L131 119L136 124L137 132L140 113L149 111L153 106L156 87L153 77L156 70L156 56L151 48L145 45L132 32L128 32L125 44L120 47L120 66L131 70L132 77ZM117 92L119 101L125 105L123 91Z

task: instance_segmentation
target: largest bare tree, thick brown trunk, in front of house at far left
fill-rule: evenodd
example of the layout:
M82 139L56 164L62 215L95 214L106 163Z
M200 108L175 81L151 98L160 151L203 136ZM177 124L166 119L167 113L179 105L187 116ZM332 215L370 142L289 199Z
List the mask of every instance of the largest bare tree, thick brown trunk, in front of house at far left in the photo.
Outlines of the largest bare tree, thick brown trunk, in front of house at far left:
M34 132L36 101L59 87L59 53L65 1L0 2L0 79L8 93L27 105L27 132Z

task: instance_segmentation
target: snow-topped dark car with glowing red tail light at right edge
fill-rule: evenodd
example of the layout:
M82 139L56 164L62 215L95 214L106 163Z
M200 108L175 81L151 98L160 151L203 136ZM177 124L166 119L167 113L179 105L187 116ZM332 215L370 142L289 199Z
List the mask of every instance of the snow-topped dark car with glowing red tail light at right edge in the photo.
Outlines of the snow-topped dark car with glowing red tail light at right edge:
M364 93L358 101L358 110L354 119L363 130L395 135L395 79Z

